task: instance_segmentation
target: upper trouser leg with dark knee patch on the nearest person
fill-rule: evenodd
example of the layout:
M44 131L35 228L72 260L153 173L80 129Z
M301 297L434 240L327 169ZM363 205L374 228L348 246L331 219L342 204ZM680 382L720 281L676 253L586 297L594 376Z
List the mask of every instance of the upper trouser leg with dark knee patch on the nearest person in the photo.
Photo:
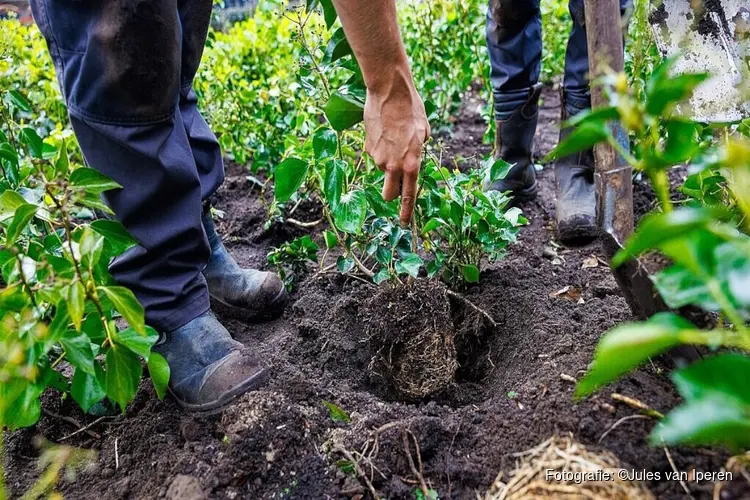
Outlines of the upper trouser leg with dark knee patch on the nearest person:
M32 5L71 114L122 125L172 118L181 66L176 0Z

